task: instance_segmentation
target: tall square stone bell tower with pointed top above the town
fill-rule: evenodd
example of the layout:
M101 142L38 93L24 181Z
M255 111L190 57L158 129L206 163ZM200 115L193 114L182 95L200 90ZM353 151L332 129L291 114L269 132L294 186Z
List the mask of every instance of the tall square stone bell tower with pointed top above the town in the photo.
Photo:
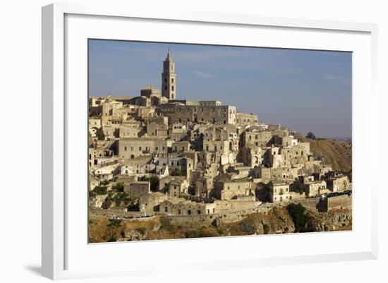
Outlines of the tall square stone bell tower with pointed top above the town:
M175 62L172 60L170 49L163 61L162 96L169 100L176 100L176 73Z

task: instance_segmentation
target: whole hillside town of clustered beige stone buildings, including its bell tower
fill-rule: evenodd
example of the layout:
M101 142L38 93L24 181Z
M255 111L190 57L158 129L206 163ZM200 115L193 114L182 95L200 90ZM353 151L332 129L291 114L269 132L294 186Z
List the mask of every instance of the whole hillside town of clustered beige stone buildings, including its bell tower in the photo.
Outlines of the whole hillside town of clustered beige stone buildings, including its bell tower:
M162 92L90 97L89 116L90 191L123 183L147 215L249 209L351 186L288 128L219 101L178 100L170 52ZM106 197L92 195L90 205L107 206Z

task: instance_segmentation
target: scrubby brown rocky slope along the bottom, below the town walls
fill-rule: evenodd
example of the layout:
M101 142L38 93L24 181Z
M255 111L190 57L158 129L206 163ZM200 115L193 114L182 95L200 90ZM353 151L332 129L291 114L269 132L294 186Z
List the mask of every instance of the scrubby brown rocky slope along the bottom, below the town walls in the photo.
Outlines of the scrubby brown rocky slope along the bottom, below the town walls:
M352 229L351 209L315 212L305 210L308 221L301 232L346 231ZM268 212L253 213L240 221L224 222L215 218L212 224L174 224L167 217L148 220L121 221L107 218L91 220L90 241L144 241L155 239L183 239L214 236L244 236L294 233L293 218L286 207L274 207Z

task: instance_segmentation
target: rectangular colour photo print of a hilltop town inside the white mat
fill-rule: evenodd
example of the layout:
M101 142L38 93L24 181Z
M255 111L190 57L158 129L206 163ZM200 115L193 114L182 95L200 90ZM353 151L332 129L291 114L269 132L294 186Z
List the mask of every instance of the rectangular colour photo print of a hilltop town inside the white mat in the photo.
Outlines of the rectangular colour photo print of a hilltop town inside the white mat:
M90 39L89 242L351 230L351 61Z

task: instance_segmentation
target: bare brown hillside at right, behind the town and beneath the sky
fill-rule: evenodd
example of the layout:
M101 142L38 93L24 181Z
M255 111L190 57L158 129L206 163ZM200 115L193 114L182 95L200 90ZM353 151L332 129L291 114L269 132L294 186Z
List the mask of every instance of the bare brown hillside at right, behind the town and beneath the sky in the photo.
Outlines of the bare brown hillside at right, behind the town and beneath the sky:
M310 151L315 157L323 157L325 164L330 164L334 170L351 170L351 143L343 140L303 138L310 143Z

